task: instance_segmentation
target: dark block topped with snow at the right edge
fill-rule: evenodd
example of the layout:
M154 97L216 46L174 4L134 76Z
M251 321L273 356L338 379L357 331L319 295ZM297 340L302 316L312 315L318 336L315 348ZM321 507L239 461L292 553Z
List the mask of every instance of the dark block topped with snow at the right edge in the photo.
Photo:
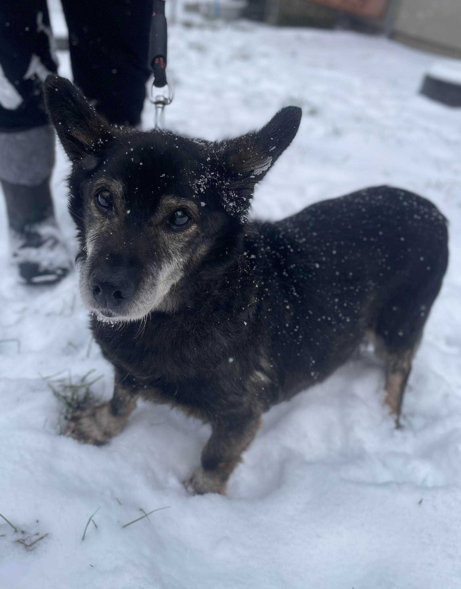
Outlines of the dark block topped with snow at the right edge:
M449 62L438 64L424 77L420 93L450 107L461 107L461 68Z

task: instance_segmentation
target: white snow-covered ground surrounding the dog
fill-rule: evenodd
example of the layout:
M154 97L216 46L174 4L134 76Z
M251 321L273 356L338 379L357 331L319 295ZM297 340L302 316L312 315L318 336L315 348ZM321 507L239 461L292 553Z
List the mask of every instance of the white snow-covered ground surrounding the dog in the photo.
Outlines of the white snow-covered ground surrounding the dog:
M176 97L167 122L179 133L229 137L283 105L303 108L292 146L257 190L255 215L278 219L389 183L449 218L450 266L410 376L404 428L383 408L383 369L365 350L266 415L228 497L183 489L208 428L176 411L140 403L100 448L60 436L61 405L42 376L76 381L94 369L103 375L94 391L109 398L112 370L90 345L75 273L51 290L15 283L2 213L0 513L18 532L0 520L0 587L461 587L461 115L417 95L434 58L380 38L243 22L176 25L169 42ZM146 127L152 121L147 106ZM67 170L59 151L55 202L72 241ZM45 534L29 550L17 542Z

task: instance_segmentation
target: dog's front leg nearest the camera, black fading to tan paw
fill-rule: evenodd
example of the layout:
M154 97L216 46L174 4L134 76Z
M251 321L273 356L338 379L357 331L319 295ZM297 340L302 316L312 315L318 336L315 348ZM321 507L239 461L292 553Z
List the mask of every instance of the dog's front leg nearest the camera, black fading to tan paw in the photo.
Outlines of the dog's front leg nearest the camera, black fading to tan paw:
M192 494L226 494L226 485L233 469L241 461L261 426L261 413L233 416L232 422L212 423L212 434L203 448L201 465L185 481Z

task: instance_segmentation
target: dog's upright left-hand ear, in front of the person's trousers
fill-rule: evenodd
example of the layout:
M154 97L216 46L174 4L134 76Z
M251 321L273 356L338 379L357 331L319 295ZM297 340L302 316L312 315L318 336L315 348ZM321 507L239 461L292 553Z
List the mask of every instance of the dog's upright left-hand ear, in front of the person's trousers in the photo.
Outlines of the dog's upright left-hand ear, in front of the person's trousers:
M74 162L97 154L113 127L97 114L82 92L69 80L49 75L45 102L51 122L68 158Z

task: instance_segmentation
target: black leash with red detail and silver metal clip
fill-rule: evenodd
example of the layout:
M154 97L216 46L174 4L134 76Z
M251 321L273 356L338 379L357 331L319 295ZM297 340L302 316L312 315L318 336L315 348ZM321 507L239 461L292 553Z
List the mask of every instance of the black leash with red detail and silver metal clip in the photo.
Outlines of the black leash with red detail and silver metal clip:
M162 129L163 109L173 100L173 92L166 80L167 27L165 0L153 0L152 24L149 39L149 65L154 74L150 102L155 105L154 127Z

